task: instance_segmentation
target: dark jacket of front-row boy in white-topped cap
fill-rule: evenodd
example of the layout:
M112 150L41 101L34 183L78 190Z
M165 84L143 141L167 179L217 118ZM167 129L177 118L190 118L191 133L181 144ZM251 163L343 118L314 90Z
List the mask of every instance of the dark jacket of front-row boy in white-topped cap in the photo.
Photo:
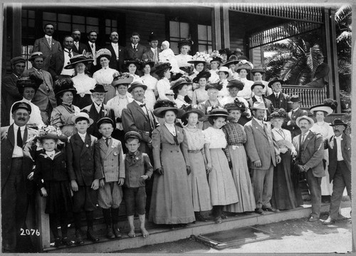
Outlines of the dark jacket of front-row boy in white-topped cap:
M85 143L78 133L70 136L66 145L67 170L70 180L80 186L91 186L94 180L104 178L100 165L100 152L95 150L98 139L88 133Z

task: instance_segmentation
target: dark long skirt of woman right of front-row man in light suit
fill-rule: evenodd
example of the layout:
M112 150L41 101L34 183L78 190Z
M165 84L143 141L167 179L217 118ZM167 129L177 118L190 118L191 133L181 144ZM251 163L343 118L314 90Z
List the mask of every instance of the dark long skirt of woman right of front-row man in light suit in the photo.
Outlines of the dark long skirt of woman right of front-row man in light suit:
M281 154L281 163L273 171L273 192L271 205L280 210L293 209L298 206L291 177L290 150Z

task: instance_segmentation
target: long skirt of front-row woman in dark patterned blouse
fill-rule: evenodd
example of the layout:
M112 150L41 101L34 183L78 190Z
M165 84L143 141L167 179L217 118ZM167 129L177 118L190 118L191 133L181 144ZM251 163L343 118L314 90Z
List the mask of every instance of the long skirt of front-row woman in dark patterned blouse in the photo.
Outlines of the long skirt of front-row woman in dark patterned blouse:
M229 145L228 148L231 155L232 177L234 178L237 195L239 195L239 202L227 205L224 210L232 213L251 212L255 210L256 202L250 174L248 173L245 148L243 145Z

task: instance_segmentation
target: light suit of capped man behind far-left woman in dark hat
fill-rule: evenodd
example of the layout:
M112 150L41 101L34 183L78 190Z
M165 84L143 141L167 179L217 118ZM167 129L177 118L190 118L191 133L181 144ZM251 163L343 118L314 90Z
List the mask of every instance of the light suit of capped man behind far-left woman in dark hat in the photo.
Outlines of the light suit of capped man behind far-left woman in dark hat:
M36 68L30 68L24 71L23 76L28 76L28 73L31 73L31 71L36 71ZM43 83L41 83L35 96L33 97L32 103L40 108L43 123L48 124L52 110L57 106L57 100L53 91L53 80L51 74L44 70L40 72L43 76Z

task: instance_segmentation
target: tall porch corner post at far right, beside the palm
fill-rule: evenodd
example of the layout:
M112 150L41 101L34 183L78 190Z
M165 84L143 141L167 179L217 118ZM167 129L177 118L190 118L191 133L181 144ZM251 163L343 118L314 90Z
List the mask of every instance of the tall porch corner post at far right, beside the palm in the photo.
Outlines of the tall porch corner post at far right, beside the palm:
M335 10L330 10L330 21L331 21L331 39L332 42L332 55L333 55L333 71L335 77L335 100L337 101L337 113L341 113L341 103L340 103L340 83L339 83L339 68L337 66L337 50L336 50L336 29L335 29ZM330 69L331 70L331 69Z

